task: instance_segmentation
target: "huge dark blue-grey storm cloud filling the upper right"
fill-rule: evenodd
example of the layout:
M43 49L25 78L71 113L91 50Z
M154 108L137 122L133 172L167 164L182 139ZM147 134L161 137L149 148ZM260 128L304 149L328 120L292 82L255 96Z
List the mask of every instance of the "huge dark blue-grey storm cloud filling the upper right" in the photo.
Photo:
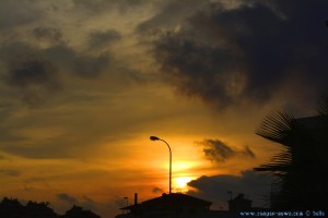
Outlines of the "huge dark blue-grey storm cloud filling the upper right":
M219 108L267 102L292 72L307 82L303 88L327 88L328 1L265 3L213 4L179 31L160 34L153 51L162 74L183 94Z

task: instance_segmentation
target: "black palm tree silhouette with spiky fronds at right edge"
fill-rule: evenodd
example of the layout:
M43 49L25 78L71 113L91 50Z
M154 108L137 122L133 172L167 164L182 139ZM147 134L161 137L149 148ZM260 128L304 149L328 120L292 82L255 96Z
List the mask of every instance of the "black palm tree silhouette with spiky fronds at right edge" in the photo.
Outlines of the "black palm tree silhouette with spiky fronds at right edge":
M283 150L255 168L277 175L270 203L273 209L328 208L328 98L318 116L295 119L286 112L268 116L257 134L283 146Z

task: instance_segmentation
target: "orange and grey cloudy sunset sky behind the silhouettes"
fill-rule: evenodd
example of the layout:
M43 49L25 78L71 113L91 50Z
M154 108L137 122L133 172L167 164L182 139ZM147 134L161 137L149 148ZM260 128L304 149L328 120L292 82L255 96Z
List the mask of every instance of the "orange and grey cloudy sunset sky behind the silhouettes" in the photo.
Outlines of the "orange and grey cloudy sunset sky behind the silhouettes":
M173 191L263 206L276 110L314 114L326 0L1 0L0 198L102 217ZM189 186L185 186L186 183Z

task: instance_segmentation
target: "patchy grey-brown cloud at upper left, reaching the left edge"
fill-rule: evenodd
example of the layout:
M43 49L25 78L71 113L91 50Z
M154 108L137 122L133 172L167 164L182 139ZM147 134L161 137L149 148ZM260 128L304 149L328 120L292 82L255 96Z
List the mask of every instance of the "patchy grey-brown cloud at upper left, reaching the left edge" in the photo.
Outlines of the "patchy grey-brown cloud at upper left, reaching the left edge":
M109 64L108 51L94 56L79 52L63 41L60 31L56 28L38 27L33 33L35 37L51 43L50 46L38 48L22 41L1 45L0 58L7 63L11 85L20 83L27 87L28 84L38 84L50 90L60 86L58 72L97 77Z

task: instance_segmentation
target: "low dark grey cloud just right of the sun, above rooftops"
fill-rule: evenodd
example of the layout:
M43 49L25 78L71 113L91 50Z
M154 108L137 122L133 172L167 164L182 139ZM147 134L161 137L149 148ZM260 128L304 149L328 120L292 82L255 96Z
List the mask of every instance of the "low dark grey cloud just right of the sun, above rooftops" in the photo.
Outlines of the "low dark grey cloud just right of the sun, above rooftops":
M241 177L231 174L203 175L188 183L189 186L197 189L197 191L189 191L188 194L226 204L226 201L230 199L227 192L231 191L233 197L238 193L244 193L246 198L253 201L253 206L265 206L268 203L266 199L268 199L272 180L273 178L269 174L250 170L243 171Z

